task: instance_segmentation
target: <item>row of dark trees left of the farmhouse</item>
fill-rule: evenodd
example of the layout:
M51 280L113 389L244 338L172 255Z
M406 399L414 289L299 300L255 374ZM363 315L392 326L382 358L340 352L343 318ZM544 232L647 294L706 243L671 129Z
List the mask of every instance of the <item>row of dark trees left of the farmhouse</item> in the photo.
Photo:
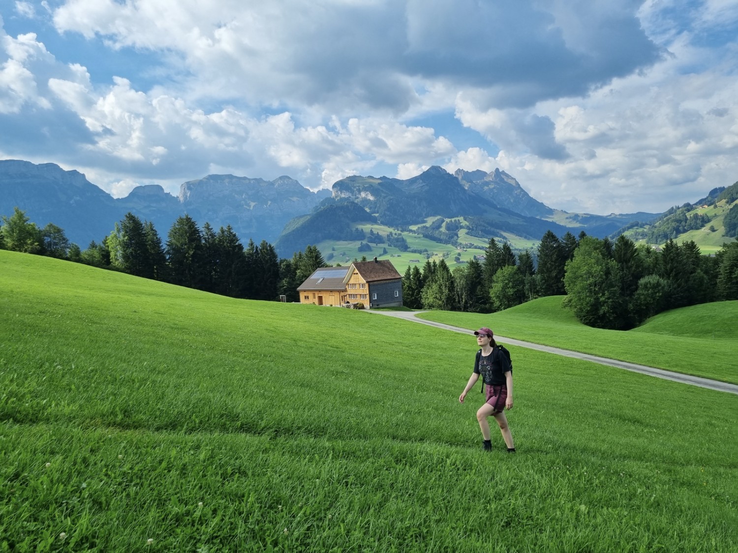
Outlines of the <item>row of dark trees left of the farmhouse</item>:
M137 277L170 282L199 290L247 299L276 300L280 295L297 302L299 286L318 267L325 266L316 246L296 252L292 259L277 257L272 244L249 240L244 248L231 226L215 232L210 223L200 229L189 215L178 218L162 242L151 221L127 213L100 243L85 250L70 243L63 229L49 223L39 229L21 209L2 218L0 248L48 255Z

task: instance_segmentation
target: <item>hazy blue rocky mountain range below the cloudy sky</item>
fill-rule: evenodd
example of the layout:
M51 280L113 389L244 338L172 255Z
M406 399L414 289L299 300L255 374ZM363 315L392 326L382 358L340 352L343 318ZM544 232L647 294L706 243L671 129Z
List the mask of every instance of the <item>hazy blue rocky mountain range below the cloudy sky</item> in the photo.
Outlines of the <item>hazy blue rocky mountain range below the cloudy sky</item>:
M635 220L659 214L571 214L531 198L504 171L430 167L409 179L354 175L337 181L332 190L317 192L288 176L274 181L234 175L207 175L184 182L179 195L159 185L134 188L113 198L75 170L56 164L0 160L0 215L18 206L38 226L52 222L72 242L84 247L110 234L117 220L133 212L151 220L165 239L170 226L189 214L200 225L232 226L242 242L249 238L276 243L282 256L311 243L347 237L351 225L378 222L396 228L424 223L432 216L463 217L481 234L511 232L538 240L546 230L604 237Z

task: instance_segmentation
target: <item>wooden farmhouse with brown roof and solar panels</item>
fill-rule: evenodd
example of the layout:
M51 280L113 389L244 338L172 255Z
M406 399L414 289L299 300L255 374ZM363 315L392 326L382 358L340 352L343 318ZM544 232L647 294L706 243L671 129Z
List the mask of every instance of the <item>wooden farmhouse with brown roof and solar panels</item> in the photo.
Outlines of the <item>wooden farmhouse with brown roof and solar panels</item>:
M359 261L348 267L322 267L297 287L300 303L401 307L402 277L389 260Z

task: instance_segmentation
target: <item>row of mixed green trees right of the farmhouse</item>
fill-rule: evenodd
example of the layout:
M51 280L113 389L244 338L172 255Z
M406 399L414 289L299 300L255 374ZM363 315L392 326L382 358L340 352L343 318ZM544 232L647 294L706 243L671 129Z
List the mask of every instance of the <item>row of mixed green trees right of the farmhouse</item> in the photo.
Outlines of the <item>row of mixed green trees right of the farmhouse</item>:
M632 328L663 310L720 299L738 299L738 243L714 257L694 242L669 240L662 251L629 238L561 239L546 232L533 254L517 256L507 243L489 240L483 262L449 270L444 260L408 267L403 278L407 307L477 313L503 310L542 296L567 294L566 305L593 327Z

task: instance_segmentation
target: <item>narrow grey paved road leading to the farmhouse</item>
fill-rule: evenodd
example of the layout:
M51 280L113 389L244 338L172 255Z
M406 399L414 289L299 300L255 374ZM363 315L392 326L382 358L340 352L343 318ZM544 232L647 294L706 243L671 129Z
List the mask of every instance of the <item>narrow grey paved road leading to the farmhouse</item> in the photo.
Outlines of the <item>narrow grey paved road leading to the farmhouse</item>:
M384 311L384 310L366 310L367 313L378 313L381 315L387 315L390 317L396 317L398 319L405 319L406 321L413 321L421 324L427 324L430 327L442 328L444 330L452 330L453 332L469 334L472 330L468 328L452 327L450 324L437 323L434 321L424 321L424 319L418 319L415 317L422 311ZM691 384L692 386L700 386L702 388L708 388L711 390L717 390L718 392L728 392L729 394L738 394L738 386L735 384L728 384L720 382L720 380L710 380L709 378L700 378L698 376L682 375L679 372L665 371L663 369L655 369L652 366L638 365L635 363L628 363L627 361L617 361L615 359L608 359L606 357L598 357L597 355L590 355L588 353L573 352L569 349L560 349L558 347L542 346L541 344L534 344L532 342L525 342L522 340L515 340L514 338L505 338L503 336L494 335L495 339L504 341L505 344L513 344L514 346L528 347L530 349L537 349L541 352L554 353L556 355L565 355L566 357L572 357L575 359L583 359L584 361L592 361L593 363L599 363L601 365L616 366L618 369L626 369L633 372L641 372L644 375L655 376L658 378L664 378L666 380L674 380L683 384Z

